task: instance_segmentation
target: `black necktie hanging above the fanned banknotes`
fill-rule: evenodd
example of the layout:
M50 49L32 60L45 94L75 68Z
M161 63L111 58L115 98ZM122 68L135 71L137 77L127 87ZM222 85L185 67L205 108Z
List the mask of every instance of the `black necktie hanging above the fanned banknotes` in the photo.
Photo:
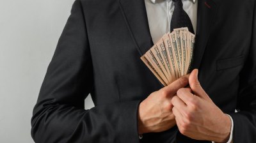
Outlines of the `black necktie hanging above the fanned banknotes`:
M194 29L186 11L183 10L183 3L181 0L172 0L174 2L174 11L171 20L171 32L175 28L188 27L193 34Z

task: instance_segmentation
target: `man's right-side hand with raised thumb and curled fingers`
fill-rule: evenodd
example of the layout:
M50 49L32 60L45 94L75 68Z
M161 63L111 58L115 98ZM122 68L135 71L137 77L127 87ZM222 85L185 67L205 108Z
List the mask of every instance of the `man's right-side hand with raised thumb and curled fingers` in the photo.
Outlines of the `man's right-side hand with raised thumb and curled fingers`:
M227 142L231 121L209 98L198 82L198 70L189 76L190 88L172 98L173 114L180 133L196 140Z

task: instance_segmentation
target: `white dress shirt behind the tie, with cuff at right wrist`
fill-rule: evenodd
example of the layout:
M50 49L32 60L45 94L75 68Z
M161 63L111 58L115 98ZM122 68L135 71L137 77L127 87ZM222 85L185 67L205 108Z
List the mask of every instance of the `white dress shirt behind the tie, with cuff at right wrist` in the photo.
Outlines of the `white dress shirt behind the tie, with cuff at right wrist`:
M183 9L188 13L192 22L193 29L196 33L197 20L197 1L196 0L182 0ZM148 25L152 40L157 43L158 40L170 31L170 23L174 10L174 3L172 0L145 0L147 10ZM228 115L229 116L229 115ZM231 143L233 139L234 122L231 116L230 137L227 143ZM214 143L214 142L213 142Z

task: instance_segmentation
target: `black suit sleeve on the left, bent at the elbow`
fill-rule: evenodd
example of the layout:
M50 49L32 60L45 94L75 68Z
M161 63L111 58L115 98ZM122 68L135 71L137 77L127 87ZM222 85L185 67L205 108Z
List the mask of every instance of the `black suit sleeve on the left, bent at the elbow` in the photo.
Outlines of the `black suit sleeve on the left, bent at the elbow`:
M70 17L47 68L31 119L35 142L139 142L140 101L84 110L93 89L92 57L81 1Z

